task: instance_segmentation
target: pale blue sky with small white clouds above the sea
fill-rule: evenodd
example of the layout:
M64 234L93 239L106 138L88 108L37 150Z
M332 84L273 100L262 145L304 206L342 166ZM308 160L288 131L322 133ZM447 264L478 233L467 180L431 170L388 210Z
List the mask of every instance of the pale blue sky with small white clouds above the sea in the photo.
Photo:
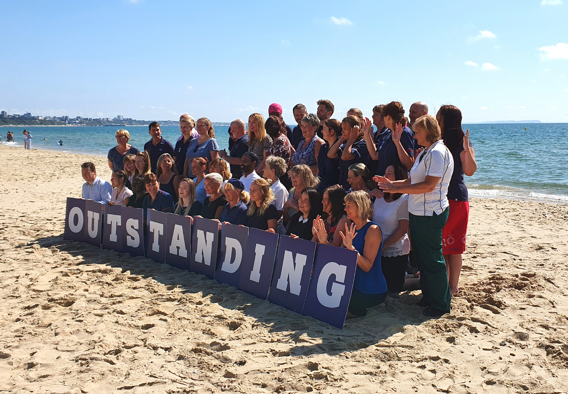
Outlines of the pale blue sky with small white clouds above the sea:
M0 110L212 121L423 100L568 122L568 0L2 2ZM407 112L408 113L408 112ZM197 118L196 118L197 119Z

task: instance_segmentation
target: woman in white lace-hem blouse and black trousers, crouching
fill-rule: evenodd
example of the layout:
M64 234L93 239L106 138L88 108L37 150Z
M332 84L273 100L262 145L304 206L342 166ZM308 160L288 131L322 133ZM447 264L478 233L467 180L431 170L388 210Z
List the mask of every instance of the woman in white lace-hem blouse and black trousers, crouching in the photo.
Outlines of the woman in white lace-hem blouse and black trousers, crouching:
M385 178L390 181L408 179L402 166L388 166ZM404 286L404 278L409 268L408 254L408 194L385 193L373 203L373 221L383 234L381 267L390 291L399 293Z

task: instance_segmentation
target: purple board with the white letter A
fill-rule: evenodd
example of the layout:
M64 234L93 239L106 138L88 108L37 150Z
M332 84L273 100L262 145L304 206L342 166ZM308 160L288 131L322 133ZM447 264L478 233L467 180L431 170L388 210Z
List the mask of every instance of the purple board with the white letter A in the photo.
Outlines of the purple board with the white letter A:
M191 219L174 213L167 215L166 263L180 270L189 270Z

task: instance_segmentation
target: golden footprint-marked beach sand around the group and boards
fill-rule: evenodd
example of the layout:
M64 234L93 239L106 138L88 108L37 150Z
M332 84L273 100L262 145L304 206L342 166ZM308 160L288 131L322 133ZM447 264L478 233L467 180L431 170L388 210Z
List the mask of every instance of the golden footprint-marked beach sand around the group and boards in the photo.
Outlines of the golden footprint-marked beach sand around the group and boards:
M473 199L462 291L344 330L204 276L62 240L81 162L0 146L0 392L568 391L568 208Z

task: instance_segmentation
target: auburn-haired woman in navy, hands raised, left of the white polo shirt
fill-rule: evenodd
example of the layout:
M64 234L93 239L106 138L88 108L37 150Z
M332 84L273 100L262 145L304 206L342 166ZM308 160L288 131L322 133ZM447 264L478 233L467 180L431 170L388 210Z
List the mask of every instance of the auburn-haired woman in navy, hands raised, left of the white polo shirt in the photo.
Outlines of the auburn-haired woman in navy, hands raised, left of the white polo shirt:
M376 161L377 172L371 175L385 175L385 170L391 164L402 165L410 170L414 163L415 140L414 133L406 125L404 120L404 108L402 103L393 101L386 104L381 112L387 131L382 139L375 142L371 139L371 121L365 118L363 122L363 134L370 157Z

